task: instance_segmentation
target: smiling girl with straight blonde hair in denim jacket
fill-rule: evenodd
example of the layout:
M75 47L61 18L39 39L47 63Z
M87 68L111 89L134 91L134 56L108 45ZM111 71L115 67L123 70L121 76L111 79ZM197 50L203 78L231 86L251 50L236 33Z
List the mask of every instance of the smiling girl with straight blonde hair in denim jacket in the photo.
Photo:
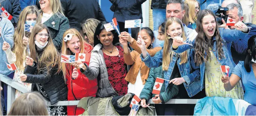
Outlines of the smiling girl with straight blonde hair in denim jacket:
M159 51L154 57L150 57L145 48L145 43L140 38L138 38L137 45L141 48L141 60L150 68L159 67L162 64L162 69L164 70L164 79L170 80L174 85L179 85L179 93L176 98L189 98L194 96L200 91L200 80L199 80L199 68L195 69L192 67L190 60L190 50L185 51L181 54L176 54L171 50L171 44L173 43L172 38L179 40L186 40L184 32L184 27L182 22L178 18L170 18L166 22L165 34L166 39L164 42L164 49ZM194 69L194 70L193 70ZM191 81L190 78L195 80ZM165 90L169 86L169 81L165 80ZM185 86L185 88L184 88ZM195 98L195 97L193 97ZM202 97L201 97L202 98ZM155 95L153 101L161 102L161 95ZM158 103L159 103L158 102ZM143 106L146 107L146 106ZM179 108L180 107L180 108ZM177 107L169 107L169 109L183 109L190 105L178 105ZM193 107L193 106L192 106ZM171 115L176 115L175 112ZM178 111L179 113L179 111ZM188 114L179 115L190 115L189 111L180 112ZM170 114L168 114L170 115Z

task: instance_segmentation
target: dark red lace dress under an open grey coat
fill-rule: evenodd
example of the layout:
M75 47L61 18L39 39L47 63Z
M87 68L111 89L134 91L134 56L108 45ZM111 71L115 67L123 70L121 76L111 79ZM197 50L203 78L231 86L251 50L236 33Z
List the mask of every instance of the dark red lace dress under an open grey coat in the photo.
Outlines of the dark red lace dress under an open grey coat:
M127 68L124 62L124 50L121 46L116 46L119 51L118 56L109 56L103 53L107 73L109 74L109 82L118 93L118 95L125 95L128 91L128 83L125 80ZM119 57L120 56L120 57Z

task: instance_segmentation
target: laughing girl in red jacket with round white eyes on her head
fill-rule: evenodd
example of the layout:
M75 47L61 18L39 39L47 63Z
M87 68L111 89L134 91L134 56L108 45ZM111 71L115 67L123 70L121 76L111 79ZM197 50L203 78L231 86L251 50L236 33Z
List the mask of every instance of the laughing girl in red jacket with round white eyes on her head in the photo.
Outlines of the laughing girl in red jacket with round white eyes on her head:
M61 54L75 55L79 53L85 54L85 62L89 65L91 51L93 47L84 42L82 35L74 28L68 29L63 35L63 44ZM83 97L95 97L98 89L97 79L89 80L80 70L77 70L73 65L61 63L64 80L68 87L68 101L80 100ZM67 115L80 115L84 109L76 106L67 106Z

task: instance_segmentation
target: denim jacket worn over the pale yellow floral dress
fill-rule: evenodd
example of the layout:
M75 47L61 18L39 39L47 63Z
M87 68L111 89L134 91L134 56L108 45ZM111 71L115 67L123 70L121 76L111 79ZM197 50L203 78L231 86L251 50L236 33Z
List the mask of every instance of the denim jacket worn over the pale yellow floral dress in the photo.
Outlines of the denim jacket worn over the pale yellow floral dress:
M252 27L252 28L255 28L255 27ZM244 39L246 36L248 36L248 34L243 33L242 31L239 31L239 30L226 30L224 28L219 28L219 31L220 31L220 36L223 40L222 49L223 49L224 58L221 59L217 55L215 36L213 37L212 51L213 51L213 54L215 55L216 59L220 62L221 65L228 65L230 67L229 76L231 76L232 70L235 67L235 63L231 56L231 50L230 50L231 43L232 43L232 41L237 40L237 39ZM193 41L193 44L194 44L194 42L195 42L195 40ZM174 50L174 52L182 53L183 51L186 51L190 47L191 46L189 46L189 45L182 45L182 46L179 46L176 50ZM194 49L192 49L192 54L193 54L193 52L194 52ZM192 58L191 62L195 62L194 58ZM200 64L201 90L204 88L204 71L205 71L205 62Z

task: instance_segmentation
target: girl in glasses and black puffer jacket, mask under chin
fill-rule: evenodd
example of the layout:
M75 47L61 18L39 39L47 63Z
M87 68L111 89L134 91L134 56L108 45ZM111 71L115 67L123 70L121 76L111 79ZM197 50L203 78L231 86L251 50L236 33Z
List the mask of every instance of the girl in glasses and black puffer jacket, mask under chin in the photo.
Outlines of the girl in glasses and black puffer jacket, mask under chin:
M29 39L30 57L26 58L22 82L32 83L51 104L67 100L67 85L61 70L60 54L52 42L48 28L36 24ZM49 106L49 115L67 115L67 106Z

